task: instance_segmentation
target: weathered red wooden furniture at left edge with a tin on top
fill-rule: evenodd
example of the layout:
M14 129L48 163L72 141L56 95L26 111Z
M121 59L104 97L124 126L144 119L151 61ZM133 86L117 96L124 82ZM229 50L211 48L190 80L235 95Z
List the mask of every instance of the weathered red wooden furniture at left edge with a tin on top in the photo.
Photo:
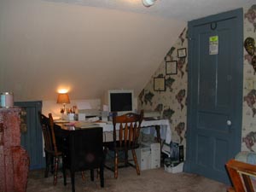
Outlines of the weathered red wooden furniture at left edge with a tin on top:
M29 157L20 147L20 108L0 108L0 191L26 192Z

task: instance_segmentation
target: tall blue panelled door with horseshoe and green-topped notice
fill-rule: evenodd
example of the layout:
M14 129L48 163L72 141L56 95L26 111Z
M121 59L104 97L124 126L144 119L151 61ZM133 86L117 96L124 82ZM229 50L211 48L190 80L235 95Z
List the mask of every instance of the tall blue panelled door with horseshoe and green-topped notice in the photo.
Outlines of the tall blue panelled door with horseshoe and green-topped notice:
M229 183L225 163L241 150L242 9L189 22L185 171Z

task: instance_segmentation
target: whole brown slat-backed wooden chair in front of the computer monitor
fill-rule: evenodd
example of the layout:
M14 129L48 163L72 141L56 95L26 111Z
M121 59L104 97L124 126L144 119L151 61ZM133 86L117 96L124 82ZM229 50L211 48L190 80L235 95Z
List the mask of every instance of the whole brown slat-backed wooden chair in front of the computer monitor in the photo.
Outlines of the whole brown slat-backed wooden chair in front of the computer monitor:
M125 152L125 166L131 165L128 161L128 150L131 150L133 161L137 170L137 175L140 175L140 168L137 164L136 148L139 148L138 137L140 134L141 124L143 121L143 111L140 114L126 113L121 116L113 116L113 142L106 143L106 153L108 150L114 153L114 167L111 169L114 172L114 177L118 177L119 167L119 152ZM117 137L117 126L119 126ZM131 165L133 166L133 165Z

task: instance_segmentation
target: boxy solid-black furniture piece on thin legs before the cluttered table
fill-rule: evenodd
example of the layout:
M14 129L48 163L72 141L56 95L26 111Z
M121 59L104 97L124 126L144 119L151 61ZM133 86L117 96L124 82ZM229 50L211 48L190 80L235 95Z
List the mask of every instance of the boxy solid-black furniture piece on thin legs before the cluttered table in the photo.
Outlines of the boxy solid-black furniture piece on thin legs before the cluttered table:
M102 127L76 131L64 131L55 125L62 134L63 177L67 185L66 169L70 170L72 191L75 191L75 172L90 170L90 180L94 180L94 169L100 169L101 187L104 187L104 160L102 147ZM58 136L60 137L60 136Z

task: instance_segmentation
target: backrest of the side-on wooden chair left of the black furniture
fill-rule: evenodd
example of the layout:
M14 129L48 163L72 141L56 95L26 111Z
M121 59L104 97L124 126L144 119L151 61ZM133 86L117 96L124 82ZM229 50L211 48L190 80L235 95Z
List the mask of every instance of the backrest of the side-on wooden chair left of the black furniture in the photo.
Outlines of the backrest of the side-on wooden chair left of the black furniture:
M49 118L42 113L38 113L38 115L44 136L44 150L49 153L57 153L52 115L49 114Z

